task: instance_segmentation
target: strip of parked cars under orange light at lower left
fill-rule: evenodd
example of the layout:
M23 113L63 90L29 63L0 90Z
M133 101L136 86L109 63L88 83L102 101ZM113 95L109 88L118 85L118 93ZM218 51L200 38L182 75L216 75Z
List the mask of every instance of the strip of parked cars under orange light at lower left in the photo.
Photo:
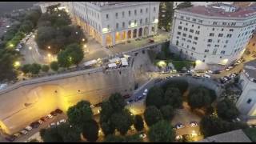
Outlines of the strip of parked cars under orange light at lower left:
M30 126L26 126L26 128L14 135L2 134L0 142L26 142L27 139L38 133L41 129L57 126L66 122L66 119L66 114L62 113L62 111L51 113L46 117L40 118L37 122L31 123Z

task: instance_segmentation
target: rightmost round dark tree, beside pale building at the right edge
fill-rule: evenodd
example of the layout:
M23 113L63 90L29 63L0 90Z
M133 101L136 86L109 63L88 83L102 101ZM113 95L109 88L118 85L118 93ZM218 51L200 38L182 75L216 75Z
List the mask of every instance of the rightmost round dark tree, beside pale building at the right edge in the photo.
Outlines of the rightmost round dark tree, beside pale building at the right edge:
M238 117L239 111L230 99L225 98L221 102L217 103L217 114L220 118L231 121Z

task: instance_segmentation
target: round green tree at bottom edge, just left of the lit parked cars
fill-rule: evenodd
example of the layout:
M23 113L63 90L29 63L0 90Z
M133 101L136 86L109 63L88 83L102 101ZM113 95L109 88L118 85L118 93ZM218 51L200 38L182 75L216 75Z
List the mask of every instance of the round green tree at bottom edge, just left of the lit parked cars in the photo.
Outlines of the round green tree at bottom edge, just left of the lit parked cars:
M159 121L150 127L150 142L174 142L175 132L170 122Z

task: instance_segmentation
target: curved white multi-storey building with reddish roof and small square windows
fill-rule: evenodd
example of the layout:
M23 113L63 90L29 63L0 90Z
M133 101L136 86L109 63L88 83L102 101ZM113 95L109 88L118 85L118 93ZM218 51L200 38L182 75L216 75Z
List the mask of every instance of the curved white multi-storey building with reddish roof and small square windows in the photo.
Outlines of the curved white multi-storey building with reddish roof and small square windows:
M255 4L241 8L217 3L175 10L170 47L204 68L224 68L242 56L255 26Z

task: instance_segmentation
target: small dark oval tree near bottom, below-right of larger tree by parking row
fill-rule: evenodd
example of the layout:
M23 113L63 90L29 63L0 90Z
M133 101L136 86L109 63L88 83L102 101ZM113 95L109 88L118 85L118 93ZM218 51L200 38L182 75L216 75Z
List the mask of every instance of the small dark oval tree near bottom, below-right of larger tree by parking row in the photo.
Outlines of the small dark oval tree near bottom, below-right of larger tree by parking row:
M84 126L82 127L82 135L89 142L96 142L98 139L98 129L98 123L92 119L85 122Z

